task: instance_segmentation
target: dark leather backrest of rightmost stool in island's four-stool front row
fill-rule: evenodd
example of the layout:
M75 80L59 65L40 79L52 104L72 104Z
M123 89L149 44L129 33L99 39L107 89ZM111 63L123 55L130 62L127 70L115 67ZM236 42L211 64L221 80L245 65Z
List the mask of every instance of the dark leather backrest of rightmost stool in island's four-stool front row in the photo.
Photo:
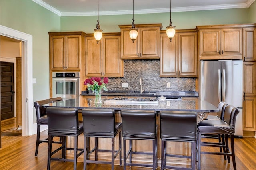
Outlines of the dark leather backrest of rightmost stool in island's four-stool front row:
M161 111L160 136L162 140L195 142L196 112Z

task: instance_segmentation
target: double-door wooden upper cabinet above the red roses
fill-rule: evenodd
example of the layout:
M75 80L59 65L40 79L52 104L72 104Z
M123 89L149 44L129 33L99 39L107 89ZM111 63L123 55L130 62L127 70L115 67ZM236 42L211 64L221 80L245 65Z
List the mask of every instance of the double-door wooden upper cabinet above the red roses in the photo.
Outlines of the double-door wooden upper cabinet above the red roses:
M120 33L103 34L97 44L93 34L86 36L85 77L124 77L120 59Z

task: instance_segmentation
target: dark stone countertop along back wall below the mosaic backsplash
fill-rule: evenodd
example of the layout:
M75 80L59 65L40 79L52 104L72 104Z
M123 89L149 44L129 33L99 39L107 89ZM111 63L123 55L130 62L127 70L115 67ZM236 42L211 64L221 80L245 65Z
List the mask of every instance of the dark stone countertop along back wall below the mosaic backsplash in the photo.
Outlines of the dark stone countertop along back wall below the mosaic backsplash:
M88 91L82 91L81 96L95 95L94 93L88 93ZM167 99L179 98L179 97L198 97L197 91L103 91L102 96L145 96L145 97L160 97L164 96Z

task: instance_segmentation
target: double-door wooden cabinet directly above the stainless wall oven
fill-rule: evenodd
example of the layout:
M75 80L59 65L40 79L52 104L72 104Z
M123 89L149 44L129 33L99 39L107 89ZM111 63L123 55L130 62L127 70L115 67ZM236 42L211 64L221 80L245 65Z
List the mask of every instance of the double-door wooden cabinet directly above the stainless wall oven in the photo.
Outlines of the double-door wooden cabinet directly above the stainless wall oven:
M50 69L80 70L81 57L84 56L84 32L49 32Z

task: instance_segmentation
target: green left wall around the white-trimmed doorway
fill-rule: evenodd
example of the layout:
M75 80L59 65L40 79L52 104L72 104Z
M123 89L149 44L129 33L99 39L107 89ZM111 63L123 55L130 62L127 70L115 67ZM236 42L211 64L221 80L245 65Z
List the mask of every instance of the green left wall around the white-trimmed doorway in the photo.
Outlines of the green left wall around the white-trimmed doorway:
M60 16L32 0L0 0L0 24L33 36L33 100L49 98L49 36L60 31Z

